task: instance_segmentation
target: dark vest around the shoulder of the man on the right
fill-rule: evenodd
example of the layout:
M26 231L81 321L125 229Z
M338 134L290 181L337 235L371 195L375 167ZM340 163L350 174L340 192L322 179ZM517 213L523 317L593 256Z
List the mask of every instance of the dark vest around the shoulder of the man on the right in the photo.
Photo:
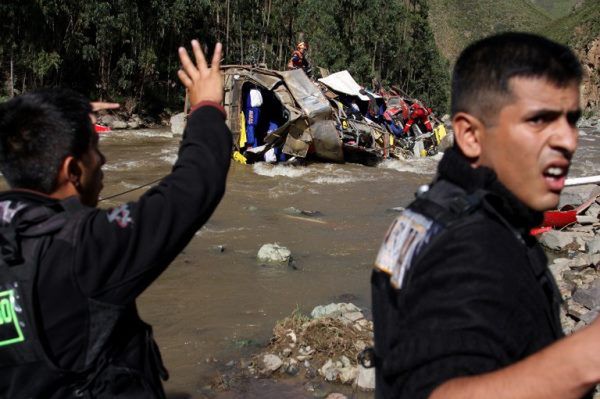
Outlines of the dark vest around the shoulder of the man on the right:
M393 307L395 306L395 295L397 289L403 284L409 284L414 270L412 266L418 263L421 256L426 256L427 247L436 239L442 236L442 233L458 224L470 224L476 222L479 218L493 218L504 225L514 235L515 240L519 241L527 253L527 258L532 270L535 272L540 287L544 291L547 303L541 304L540 310L546 313L548 324L552 330L552 335L558 339L564 334L558 317L558 307L560 305L560 293L556 287L554 279L546 268L546 258L539 246L529 247L525 239L515 228L491 206L493 194L485 190L477 190L467 194L462 188L446 181L438 181L431 190L423 190L417 194L405 211L407 218L412 218L412 222L422 227L414 229L414 224L410 221L406 223L403 236L399 237L403 242L410 242L410 245L403 245L402 251L405 258L398 270L393 270L388 274L374 272L372 275L372 289L379 292L385 292L388 295L373 297L373 313L378 313L385 318L385 325L393 325L393 322L387 318L395 319L397 314ZM395 223L398 223L398 218ZM392 230L390 228L390 230ZM389 303L383 306L381 301ZM556 311L552 311L555 309ZM375 326L377 328L377 326ZM365 367L376 367L376 391L377 398L393 397L394 393L389 391L391 386L383 382L384 363L394 363L394 357L401 356L394 352L390 345L393 331L375 331L375 347L367 348L359 355L359 361ZM384 337L384 338L382 338Z

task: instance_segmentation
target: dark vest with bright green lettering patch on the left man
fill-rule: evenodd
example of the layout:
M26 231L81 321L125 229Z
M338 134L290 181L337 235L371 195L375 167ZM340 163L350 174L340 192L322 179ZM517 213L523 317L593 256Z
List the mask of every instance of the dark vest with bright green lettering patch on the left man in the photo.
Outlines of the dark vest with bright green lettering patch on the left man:
M89 337L81 369L59 368L44 346L36 315L40 259L52 236L88 211L67 199L18 210L10 225L0 227L0 399L165 398L160 379L168 375L151 327L135 305L88 299ZM69 259L65 254L61 264Z

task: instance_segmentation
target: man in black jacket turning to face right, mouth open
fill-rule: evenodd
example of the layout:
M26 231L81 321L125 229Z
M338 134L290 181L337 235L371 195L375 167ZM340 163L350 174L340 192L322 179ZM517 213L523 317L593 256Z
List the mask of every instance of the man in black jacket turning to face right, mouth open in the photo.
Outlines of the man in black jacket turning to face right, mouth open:
M372 274L377 398L575 399L600 382L600 320L563 337L560 294L528 234L558 205L581 78L570 49L531 34L460 55L455 146Z

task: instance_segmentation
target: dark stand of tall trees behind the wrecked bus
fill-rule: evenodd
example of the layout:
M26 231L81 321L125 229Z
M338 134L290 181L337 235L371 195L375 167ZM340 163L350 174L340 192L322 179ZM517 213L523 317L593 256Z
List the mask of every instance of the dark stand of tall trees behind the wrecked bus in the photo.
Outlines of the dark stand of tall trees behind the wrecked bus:
M182 102L176 49L190 39L222 41L225 64L284 69L303 37L316 66L444 109L428 11L426 0L3 0L0 97L60 85L156 114Z

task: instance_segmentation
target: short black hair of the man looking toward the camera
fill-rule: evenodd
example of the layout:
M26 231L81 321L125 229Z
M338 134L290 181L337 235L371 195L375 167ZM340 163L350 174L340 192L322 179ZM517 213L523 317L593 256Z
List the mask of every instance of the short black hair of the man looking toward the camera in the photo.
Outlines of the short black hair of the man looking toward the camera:
M543 78L557 87L579 84L581 64L562 44L531 33L507 32L468 46L452 75L452 115L467 112L489 123L511 98L514 77Z

